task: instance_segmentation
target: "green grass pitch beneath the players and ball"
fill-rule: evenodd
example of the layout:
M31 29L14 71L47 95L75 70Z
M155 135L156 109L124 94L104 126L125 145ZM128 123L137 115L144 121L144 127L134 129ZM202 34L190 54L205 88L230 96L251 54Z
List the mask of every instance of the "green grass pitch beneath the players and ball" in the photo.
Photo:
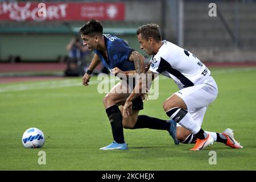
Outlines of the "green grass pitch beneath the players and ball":
M241 150L214 143L189 151L193 144L175 146L167 131L125 129L129 150L100 151L113 140L105 94L97 92L97 84L79 86L81 78L68 78L0 85L0 170L255 170L256 68L210 70L219 94L203 129L230 127ZM163 77L159 83L158 100L146 101L140 114L168 119L162 104L177 87ZM23 147L22 134L29 127L43 131L43 148ZM39 151L46 152L45 165L38 164ZM216 152L217 164L209 164L210 151Z

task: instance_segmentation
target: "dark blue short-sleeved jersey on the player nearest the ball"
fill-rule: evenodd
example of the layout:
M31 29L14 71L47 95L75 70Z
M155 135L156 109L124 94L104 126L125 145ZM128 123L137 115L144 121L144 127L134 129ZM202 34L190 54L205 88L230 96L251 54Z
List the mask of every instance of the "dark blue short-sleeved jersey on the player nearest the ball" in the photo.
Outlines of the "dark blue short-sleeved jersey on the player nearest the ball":
M94 50L94 52L100 57L102 64L104 64L108 69L117 67L122 71L135 70L134 62L129 61L131 52L133 52L134 49L130 48L123 39L119 39L117 36L111 34L103 35L108 59L106 59L106 57L104 57L97 49Z

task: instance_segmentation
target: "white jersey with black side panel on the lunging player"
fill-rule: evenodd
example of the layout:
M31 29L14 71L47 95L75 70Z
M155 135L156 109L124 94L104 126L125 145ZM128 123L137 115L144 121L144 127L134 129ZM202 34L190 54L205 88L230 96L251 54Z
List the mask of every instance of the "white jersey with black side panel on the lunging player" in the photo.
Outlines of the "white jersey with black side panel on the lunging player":
M163 40L158 53L152 56L150 71L172 78L179 89L204 82L210 71L191 52Z

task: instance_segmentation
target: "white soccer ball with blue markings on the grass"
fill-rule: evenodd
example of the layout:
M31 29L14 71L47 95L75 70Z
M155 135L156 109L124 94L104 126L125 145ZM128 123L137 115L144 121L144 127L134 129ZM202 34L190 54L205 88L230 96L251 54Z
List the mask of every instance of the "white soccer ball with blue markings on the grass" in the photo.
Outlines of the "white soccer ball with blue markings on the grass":
M43 131L31 127L27 129L22 136L22 143L25 148L40 148L44 145Z

